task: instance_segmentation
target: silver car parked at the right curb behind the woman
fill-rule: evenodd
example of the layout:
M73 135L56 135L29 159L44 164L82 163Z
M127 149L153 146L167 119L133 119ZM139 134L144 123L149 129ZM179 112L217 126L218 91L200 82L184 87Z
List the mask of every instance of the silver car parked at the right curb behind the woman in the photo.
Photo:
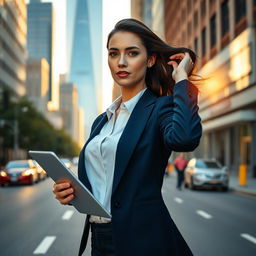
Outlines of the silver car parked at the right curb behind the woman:
M188 162L184 173L185 187L221 188L228 190L229 175L227 167L216 160L193 158Z

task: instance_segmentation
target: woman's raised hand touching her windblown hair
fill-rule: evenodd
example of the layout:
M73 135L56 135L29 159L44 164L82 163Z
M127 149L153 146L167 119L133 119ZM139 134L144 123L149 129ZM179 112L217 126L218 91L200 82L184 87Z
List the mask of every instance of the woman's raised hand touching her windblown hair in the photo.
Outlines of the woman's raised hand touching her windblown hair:
M181 80L188 79L190 72L193 70L194 63L188 52L177 53L170 56L170 61L167 64L172 65L172 78L178 83ZM177 60L179 64L177 63Z

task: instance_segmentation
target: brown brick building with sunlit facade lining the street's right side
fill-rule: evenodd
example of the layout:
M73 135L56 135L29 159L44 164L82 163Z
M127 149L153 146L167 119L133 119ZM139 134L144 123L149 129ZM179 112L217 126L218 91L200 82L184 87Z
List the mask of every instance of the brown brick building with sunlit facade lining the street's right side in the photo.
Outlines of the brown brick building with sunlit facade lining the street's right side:
M165 1L165 36L192 48L199 73L203 138L197 154L256 177L256 1Z

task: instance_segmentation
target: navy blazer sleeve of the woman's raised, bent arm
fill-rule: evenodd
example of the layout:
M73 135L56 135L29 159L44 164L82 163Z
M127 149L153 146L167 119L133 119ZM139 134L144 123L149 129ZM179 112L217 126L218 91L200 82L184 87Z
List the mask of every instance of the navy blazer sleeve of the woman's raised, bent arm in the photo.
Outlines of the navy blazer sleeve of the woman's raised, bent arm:
M190 152L199 145L202 126L197 96L198 89L185 79L175 84L173 96L163 97L158 120L166 149Z

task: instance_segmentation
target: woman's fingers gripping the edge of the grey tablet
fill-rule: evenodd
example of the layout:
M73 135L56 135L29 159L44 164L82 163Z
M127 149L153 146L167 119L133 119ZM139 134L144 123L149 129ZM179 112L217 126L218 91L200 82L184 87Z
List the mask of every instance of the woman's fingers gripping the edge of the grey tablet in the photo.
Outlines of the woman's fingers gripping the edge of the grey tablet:
M55 183L53 185L53 193L61 204L68 204L74 198L74 189L68 182Z

